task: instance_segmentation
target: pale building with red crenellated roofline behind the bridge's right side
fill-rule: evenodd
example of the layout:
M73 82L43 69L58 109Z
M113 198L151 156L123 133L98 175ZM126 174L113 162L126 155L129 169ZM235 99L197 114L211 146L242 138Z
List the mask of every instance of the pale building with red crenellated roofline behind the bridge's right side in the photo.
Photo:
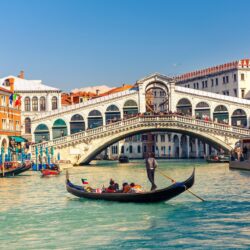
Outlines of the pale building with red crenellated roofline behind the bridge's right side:
M182 87L250 99L250 59L188 72L175 80Z

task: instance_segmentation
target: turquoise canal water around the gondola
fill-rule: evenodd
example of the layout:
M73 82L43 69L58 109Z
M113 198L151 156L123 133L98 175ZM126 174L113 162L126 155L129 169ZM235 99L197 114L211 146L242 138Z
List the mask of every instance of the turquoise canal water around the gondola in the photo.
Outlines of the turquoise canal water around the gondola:
M38 172L0 179L0 249L250 249L250 172L228 164L160 161L169 176L186 179L196 165L192 191L158 204L78 199L65 190L65 174ZM91 186L110 177L150 187L143 162L99 162L70 169ZM156 173L158 187L170 184Z

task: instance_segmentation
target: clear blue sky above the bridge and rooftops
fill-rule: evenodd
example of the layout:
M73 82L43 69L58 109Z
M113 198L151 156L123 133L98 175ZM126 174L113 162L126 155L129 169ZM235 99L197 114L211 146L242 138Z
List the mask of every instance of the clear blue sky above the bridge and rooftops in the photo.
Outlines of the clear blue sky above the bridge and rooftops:
M0 77L62 90L250 57L250 1L0 0Z

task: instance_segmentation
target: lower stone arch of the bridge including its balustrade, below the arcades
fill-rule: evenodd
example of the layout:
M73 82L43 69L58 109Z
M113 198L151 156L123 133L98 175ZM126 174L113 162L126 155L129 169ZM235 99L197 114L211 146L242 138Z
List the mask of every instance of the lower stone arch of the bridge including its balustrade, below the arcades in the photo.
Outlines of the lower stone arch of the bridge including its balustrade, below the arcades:
M249 129L193 119L187 116L175 114L136 116L33 145L32 153L34 156L35 146L42 147L44 151L46 148L53 146L55 154L60 152L62 159L71 160L75 165L88 164L107 146L127 136L149 131L169 131L193 135L225 151L232 150L242 136L250 135Z

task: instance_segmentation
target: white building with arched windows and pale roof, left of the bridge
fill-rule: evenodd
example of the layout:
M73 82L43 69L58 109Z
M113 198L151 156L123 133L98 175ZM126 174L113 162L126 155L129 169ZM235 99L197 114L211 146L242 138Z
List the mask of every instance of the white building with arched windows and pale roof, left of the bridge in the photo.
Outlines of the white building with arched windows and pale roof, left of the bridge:
M0 86L10 90L6 83L12 79L14 93L21 96L21 135L31 140L31 120L61 108L61 91L43 84L41 80L27 80L21 71L18 77L7 76L0 79Z

